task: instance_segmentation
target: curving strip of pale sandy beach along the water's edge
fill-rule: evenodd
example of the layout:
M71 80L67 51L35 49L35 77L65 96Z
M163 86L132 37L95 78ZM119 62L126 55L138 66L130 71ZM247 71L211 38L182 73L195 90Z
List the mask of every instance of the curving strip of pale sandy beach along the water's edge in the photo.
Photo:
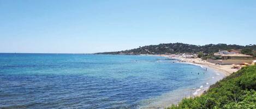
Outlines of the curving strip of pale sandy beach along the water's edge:
M178 102L180 102L183 98L198 97L198 96L202 95L205 91L207 91L211 85L215 84L217 81L225 78L225 76L228 76L238 70L238 69L232 69L231 68L232 65L215 65L214 63L210 63L210 62L201 60L199 58L183 58L181 56L173 56L173 55L152 55L152 56L167 57L168 59L175 59L175 60L177 60L177 62L186 63L186 64L190 64L190 65L195 65L195 66L201 66L201 68L207 68L209 70L214 70L214 72L217 75L219 75L218 73L220 73L221 75L223 75L223 77L215 79L215 81L212 82L211 84L208 84L208 82L207 82L206 85L207 86L209 85L208 87L200 86L200 88L198 87L198 88L194 88L194 89L181 89L180 91L183 91L183 94L179 93L180 91L172 91L170 93L165 93L165 94L161 95L160 97L168 96L168 98L171 98L171 97L176 97L177 95L183 96L183 97L180 97L179 99L173 99L173 100L169 99L170 102L166 102L166 101L168 101L166 99L159 99L160 101L155 102L154 104L147 105L142 108L165 108L166 106L171 106L172 104L175 104L175 105L178 104Z

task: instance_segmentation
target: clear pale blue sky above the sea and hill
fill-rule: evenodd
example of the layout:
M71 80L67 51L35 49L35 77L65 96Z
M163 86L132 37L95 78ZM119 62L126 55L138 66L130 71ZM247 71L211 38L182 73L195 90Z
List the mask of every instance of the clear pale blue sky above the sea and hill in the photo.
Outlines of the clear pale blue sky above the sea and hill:
M0 0L0 53L256 44L256 1Z

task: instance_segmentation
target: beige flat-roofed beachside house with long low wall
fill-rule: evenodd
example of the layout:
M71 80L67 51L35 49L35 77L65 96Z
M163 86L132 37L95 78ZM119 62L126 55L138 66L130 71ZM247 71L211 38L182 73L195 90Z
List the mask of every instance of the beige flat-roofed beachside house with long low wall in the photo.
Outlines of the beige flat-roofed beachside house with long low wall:
M244 54L224 54L221 55L221 60L207 59L208 62L217 63L219 65L232 65L242 63L252 63L253 56Z

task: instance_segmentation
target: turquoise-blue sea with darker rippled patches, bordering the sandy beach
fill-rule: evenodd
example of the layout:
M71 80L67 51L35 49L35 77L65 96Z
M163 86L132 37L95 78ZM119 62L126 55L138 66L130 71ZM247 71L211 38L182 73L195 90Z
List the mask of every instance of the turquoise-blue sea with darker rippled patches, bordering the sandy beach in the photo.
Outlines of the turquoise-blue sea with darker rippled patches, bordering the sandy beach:
M166 104L167 95L188 92L175 92L179 89L209 87L222 77L211 69L157 56L0 54L0 107L157 106Z

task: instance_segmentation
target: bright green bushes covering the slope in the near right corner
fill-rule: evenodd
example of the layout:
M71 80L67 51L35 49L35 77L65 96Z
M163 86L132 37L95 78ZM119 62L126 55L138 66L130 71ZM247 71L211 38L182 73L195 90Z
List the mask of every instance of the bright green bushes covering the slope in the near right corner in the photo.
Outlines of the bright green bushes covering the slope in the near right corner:
M256 108L255 89L256 66L248 66L216 82L200 97L183 99L178 105L172 105L168 109Z

